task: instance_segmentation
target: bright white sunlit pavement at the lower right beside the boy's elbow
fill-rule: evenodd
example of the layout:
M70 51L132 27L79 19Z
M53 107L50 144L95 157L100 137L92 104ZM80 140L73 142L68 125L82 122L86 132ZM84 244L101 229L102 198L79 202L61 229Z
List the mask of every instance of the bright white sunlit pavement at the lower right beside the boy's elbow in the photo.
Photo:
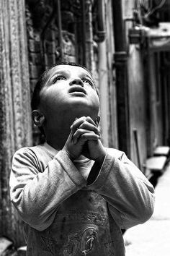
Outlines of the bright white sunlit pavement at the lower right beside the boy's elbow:
M170 163L156 185L153 216L124 234L126 256L170 256Z

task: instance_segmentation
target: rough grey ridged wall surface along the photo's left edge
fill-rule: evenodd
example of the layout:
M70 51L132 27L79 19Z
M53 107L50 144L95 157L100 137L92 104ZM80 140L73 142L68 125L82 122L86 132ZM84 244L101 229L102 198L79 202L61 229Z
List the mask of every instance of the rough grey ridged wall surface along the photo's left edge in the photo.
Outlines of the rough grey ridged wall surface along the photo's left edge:
M32 144L24 0L0 1L0 232L22 234L9 199L12 155ZM23 240L23 236L19 236ZM18 241L19 242L19 241Z

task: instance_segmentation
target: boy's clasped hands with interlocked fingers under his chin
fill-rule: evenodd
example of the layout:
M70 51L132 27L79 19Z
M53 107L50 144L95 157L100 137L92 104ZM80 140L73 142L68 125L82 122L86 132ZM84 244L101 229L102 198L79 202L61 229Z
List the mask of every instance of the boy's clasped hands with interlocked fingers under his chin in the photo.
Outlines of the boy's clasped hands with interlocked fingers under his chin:
M103 161L106 151L100 140L97 124L89 116L76 119L71 125L71 133L63 147L71 160L86 156L94 161Z

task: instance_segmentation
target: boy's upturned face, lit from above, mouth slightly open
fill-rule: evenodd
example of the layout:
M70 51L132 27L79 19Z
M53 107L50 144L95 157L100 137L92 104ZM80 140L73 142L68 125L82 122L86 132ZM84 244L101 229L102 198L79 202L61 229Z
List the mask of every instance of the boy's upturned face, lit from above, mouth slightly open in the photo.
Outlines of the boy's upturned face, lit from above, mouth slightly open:
M53 123L67 116L91 116L99 114L99 97L94 80L82 67L58 65L48 73L47 82L40 94L40 109ZM59 120L58 120L59 121Z

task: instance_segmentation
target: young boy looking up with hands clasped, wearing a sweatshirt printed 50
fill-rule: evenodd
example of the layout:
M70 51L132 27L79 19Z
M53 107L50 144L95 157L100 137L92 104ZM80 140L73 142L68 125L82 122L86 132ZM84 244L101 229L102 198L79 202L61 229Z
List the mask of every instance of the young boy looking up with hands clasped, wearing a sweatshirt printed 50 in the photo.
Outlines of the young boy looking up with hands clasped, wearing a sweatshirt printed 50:
M14 154L11 198L27 255L125 255L121 229L153 213L153 187L125 153L100 140L99 97L87 69L58 64L32 95L46 142Z

